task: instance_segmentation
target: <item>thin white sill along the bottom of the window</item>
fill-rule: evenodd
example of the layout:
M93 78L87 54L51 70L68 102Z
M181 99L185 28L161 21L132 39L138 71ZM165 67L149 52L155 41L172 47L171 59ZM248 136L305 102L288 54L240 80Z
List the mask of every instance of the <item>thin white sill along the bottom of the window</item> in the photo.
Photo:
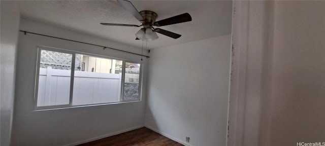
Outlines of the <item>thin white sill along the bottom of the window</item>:
M53 108L46 108L46 106L40 106L36 107L32 112L39 112L39 111L51 111L51 110L57 110L57 109L68 109L68 108L79 108L79 107L90 107L90 106L102 106L102 105L112 105L112 104L123 104L123 103L133 103L133 102L140 102L142 100L137 101L126 101L126 102L112 102L112 103L100 103L100 104L88 104L88 105L75 105L75 106L69 106L69 107L53 107ZM41 109L37 109L41 108Z

